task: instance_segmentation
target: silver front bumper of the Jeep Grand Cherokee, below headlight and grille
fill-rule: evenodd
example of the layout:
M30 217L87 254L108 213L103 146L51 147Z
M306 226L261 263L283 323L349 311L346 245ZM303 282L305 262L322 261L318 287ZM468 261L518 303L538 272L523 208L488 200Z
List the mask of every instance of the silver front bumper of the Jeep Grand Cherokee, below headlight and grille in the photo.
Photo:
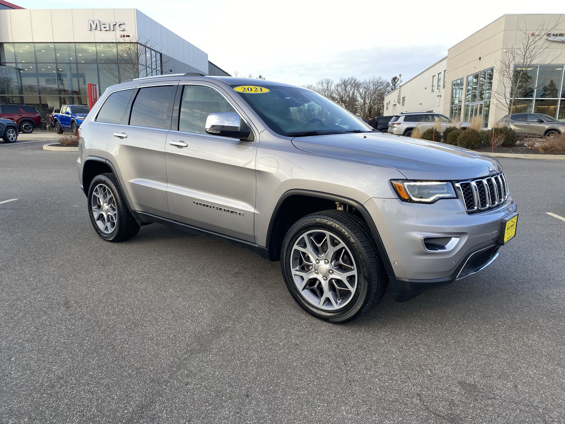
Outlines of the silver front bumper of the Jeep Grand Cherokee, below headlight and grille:
M372 198L364 206L379 230L394 272L389 283L401 302L490 265L498 256L501 222L516 211L510 197L474 214L467 214L460 199L420 205ZM459 242L449 251L425 249L423 237L442 236L458 236Z

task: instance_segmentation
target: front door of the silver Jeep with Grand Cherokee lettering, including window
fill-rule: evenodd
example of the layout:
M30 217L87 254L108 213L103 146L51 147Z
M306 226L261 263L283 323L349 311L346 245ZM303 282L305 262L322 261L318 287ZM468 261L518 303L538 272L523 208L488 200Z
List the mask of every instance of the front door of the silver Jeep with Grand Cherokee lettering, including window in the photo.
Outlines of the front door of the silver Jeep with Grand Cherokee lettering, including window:
M227 97L212 86L180 85L175 107L179 110L178 121L173 122L165 145L171 219L255 241L258 141L206 133L208 114L238 113Z

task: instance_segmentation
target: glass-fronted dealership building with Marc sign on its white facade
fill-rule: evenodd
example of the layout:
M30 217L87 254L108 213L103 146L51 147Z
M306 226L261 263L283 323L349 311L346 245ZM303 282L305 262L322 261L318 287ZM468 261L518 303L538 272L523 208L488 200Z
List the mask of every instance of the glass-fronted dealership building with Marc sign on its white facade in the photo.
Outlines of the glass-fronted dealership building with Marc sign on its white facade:
M0 0L0 103L45 115L88 105L88 84L99 95L134 77L181 72L228 75L137 9L28 10Z

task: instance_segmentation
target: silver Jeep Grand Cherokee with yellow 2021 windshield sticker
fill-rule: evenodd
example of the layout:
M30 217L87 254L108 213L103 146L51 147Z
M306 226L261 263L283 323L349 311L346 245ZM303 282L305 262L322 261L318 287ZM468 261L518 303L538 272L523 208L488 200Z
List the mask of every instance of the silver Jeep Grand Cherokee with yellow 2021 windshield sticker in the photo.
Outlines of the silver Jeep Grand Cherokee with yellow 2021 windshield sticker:
M161 223L281 261L290 294L331 322L390 284L397 301L480 271L516 230L499 163L372 131L327 98L193 74L111 86L80 128L94 230Z

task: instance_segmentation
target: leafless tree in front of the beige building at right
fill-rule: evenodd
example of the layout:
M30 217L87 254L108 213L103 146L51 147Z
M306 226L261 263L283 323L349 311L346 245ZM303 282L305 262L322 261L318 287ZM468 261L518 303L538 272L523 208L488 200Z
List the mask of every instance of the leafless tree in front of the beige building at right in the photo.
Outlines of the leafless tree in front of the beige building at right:
M499 109L507 111L510 116L520 102L519 98L535 97L534 90L547 84L548 81L538 77L537 84L536 70L537 64L551 63L554 58L549 59L549 42L544 38L545 34L554 31L559 25L559 19L555 24L541 24L536 30L516 27L518 37L514 46L506 46L502 59L495 66L498 84L493 86L492 98ZM521 41L520 41L521 40ZM534 86L534 85L537 85ZM496 87L496 88L495 88ZM548 89L551 87L548 86Z

